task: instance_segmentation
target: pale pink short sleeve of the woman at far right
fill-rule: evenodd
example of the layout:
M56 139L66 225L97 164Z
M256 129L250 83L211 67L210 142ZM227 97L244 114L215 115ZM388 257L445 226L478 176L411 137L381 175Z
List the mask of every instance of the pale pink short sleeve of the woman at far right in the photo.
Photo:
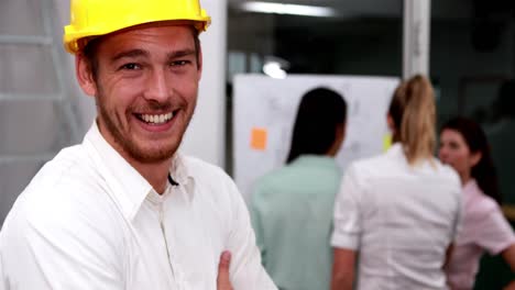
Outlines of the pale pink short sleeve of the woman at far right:
M491 255L497 255L515 243L512 226L504 217L501 209L495 207L484 219L479 221L475 232L478 245Z

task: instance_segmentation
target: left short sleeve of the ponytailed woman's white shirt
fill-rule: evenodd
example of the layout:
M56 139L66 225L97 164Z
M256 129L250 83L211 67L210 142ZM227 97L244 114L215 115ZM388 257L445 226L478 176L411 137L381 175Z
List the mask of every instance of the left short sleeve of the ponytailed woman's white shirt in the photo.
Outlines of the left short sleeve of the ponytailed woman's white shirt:
M363 189L359 186L355 168L351 165L343 176L340 191L335 201L335 228L331 237L333 247L359 249L362 232L362 198Z

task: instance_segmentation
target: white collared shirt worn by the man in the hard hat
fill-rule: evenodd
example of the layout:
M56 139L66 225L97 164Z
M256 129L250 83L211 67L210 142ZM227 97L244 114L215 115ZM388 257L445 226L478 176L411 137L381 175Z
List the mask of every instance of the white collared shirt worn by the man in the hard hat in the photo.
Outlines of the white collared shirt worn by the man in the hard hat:
M243 199L219 168L177 155L162 196L101 136L63 149L0 233L0 289L215 290L222 250L235 290L276 289Z

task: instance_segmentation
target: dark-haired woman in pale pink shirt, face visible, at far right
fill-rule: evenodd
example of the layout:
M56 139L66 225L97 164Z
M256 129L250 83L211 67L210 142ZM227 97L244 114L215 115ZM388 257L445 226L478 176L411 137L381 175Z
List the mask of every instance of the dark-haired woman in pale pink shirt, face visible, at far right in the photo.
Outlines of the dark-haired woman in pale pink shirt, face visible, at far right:
M448 121L440 132L439 157L456 169L463 186L463 223L447 267L451 288L473 288L485 250L502 254L515 271L515 235L498 207L496 170L481 126L464 118Z

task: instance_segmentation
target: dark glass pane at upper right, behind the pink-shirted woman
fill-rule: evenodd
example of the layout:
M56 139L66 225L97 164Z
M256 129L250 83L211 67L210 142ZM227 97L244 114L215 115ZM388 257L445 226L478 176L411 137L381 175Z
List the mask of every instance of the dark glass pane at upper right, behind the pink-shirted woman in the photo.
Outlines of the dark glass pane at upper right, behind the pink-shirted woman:
M432 1L431 76L439 85L439 123L479 122L491 144L504 201L515 203L514 1Z

